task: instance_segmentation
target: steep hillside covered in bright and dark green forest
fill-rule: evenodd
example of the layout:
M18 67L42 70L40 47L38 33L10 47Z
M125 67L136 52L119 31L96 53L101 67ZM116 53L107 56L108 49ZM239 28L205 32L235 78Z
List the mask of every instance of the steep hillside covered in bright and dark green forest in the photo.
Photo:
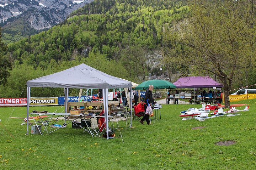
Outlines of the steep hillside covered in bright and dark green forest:
M164 29L188 13L185 1L96 0L58 26L8 45L14 70L11 89L0 87L2 95L19 97L27 80L80 63L139 83L151 69L149 58L162 46Z

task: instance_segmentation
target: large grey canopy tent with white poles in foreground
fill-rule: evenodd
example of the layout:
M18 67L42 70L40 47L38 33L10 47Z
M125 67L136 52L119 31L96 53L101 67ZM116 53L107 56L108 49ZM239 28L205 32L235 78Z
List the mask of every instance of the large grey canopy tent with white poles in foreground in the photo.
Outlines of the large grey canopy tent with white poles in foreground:
M75 67L63 70L58 73L46 75L33 80L27 81L27 120L29 115L29 101L31 87L64 87L65 89L65 113L68 105L69 88L79 89L102 89L103 106L105 112L106 131L108 131L108 89L109 88L125 88L128 87L132 91L132 83L121 78L114 77L103 73L95 68L80 64ZM129 94L130 96L132 94ZM130 97L131 98L131 97ZM130 100L130 104L132 100ZM132 105L132 104L131 104ZM130 111L132 117L132 111ZM130 127L132 126L132 118L130 119ZM28 123L27 123L28 134ZM108 133L107 133L108 139Z

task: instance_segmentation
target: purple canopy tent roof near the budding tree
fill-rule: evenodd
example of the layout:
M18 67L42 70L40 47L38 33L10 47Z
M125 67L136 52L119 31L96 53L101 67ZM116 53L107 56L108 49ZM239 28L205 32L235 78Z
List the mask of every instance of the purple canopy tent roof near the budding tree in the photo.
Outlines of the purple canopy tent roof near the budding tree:
M173 84L176 86L176 88L194 88L194 94L196 94L195 88L223 87L223 84L214 81L208 76L181 77ZM196 100L196 95L194 95L194 100Z

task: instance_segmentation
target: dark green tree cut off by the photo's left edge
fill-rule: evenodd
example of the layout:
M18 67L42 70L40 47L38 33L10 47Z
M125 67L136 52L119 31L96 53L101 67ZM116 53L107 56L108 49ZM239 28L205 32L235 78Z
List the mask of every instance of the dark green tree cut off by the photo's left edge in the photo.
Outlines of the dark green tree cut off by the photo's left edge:
M1 42L1 31L2 28L0 28L0 85L5 85L7 78L10 76L12 64L6 55L7 46Z

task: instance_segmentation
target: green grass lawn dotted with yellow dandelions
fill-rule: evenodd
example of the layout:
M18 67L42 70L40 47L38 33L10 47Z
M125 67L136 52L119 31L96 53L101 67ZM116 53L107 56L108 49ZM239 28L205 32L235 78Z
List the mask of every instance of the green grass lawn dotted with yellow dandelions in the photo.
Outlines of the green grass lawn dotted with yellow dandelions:
M201 105L163 105L159 123L133 121L135 128L127 130L126 121L119 121L124 143L118 129L114 139L106 140L92 138L82 129L71 128L71 124L51 134L25 135L22 119L9 117L26 117L26 107L0 107L0 169L255 170L256 100L234 103L248 104L250 111L205 121L181 120L180 111ZM58 108L30 110L54 112ZM223 141L235 143L216 145Z

